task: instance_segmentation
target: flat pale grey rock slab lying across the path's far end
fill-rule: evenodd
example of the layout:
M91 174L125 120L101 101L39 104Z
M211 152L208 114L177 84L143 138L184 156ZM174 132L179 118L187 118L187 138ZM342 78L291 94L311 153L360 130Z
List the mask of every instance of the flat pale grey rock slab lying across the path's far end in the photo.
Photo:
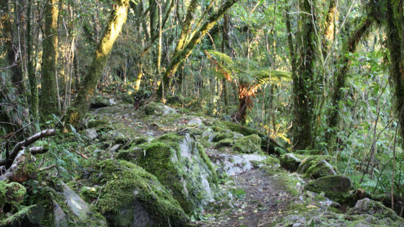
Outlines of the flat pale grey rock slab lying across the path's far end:
M264 165L267 159L265 155L259 154L218 154L213 158L215 164L220 166L230 176L250 171L255 166L260 165L260 163Z

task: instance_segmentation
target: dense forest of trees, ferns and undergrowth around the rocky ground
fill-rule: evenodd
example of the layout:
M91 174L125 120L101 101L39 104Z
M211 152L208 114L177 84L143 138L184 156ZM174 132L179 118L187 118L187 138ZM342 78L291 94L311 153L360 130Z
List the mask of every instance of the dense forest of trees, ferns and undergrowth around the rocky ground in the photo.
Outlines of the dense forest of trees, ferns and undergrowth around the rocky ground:
M31 177L15 182L54 166L47 178L79 179L94 160L71 147L84 146L78 132L91 128L87 112L102 94L133 109L153 99L248 127L255 133L244 136L258 134L267 154L329 155L355 188L393 195L402 215L403 7L399 0L2 0L0 176L26 146L18 142L57 129L33 139L46 154L32 161L34 177L27 166ZM139 165L148 172L125 174L159 178Z

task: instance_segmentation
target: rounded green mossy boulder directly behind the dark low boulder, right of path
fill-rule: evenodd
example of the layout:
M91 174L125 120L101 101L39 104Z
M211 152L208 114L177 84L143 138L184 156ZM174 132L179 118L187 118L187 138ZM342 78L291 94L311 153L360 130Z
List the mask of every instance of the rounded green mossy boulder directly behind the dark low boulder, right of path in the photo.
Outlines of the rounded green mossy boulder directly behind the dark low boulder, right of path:
M329 155L312 155L303 160L297 168L297 173L304 174L306 177L314 179L329 175L337 175L337 168L329 162L333 161Z

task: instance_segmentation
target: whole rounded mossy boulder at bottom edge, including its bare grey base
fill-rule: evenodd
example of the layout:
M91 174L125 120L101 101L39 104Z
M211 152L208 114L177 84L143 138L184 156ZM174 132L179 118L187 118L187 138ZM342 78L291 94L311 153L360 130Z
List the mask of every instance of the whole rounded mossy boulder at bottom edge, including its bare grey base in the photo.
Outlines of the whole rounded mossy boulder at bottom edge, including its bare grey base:
M97 201L96 208L109 226L184 226L187 221L170 191L142 167L107 159L88 171L85 187L94 187L96 193L88 194L86 200Z

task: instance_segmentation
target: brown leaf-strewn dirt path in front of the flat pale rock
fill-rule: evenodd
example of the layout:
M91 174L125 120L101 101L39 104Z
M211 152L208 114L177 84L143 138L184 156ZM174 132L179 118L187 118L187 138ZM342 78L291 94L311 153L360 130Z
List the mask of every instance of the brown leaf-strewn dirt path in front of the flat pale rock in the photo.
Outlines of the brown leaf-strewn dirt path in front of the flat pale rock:
M291 199L289 193L282 190L276 177L270 176L264 168L255 168L249 172L232 177L235 185L225 186L228 191L240 192L228 208L207 210L205 221L195 221L200 226L267 226L274 216L280 216L286 210ZM240 189L242 191L240 191ZM243 196L243 193L245 195ZM231 207L233 206L233 207Z

